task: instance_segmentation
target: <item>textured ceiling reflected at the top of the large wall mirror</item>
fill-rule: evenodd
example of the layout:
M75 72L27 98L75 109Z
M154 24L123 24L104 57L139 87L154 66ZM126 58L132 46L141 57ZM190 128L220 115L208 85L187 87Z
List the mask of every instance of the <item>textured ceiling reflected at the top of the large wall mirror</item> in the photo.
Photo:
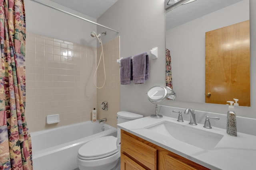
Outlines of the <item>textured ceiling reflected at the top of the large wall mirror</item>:
M242 0L196 0L166 13L166 30Z

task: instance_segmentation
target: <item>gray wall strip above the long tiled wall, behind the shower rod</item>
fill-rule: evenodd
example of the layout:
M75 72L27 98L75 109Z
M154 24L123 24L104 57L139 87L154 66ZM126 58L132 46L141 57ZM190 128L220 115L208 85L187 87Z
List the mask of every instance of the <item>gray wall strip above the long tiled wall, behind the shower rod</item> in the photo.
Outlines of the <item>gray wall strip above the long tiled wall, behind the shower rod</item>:
M96 22L94 18L56 4L50 0L40 0L40 2ZM96 47L96 38L90 36L91 31L96 31L96 25L31 0L24 0L24 6L26 11L26 31Z

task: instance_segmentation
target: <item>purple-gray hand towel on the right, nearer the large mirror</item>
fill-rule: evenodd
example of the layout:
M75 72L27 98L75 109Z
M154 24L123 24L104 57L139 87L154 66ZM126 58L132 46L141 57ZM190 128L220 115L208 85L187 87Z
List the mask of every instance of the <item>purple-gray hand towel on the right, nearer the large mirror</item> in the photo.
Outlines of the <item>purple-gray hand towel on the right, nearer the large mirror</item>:
M145 83L146 75L146 52L135 55L132 60L132 74L134 84Z

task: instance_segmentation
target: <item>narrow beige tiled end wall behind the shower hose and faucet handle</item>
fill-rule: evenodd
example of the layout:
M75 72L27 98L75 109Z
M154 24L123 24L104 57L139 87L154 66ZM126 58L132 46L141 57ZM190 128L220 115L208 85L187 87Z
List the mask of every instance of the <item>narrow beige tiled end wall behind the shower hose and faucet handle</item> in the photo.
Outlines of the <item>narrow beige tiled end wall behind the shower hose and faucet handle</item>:
M97 112L98 119L107 118L107 124L116 127L116 113L120 111L120 74L119 64L116 60L120 58L120 37L112 39L103 45L104 61L106 68L106 83L103 88L97 89ZM100 59L101 47L97 49L97 63ZM97 86L104 83L103 62L100 62L97 71ZM108 110L102 110L102 102L108 102Z

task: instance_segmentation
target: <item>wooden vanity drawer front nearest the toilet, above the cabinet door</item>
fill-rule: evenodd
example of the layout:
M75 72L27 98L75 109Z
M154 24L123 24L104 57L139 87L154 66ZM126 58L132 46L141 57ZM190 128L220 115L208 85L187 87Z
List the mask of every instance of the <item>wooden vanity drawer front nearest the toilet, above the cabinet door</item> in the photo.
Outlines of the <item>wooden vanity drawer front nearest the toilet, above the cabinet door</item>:
M121 152L125 152L150 170L156 170L157 150L137 139L139 139L139 137L121 131Z

